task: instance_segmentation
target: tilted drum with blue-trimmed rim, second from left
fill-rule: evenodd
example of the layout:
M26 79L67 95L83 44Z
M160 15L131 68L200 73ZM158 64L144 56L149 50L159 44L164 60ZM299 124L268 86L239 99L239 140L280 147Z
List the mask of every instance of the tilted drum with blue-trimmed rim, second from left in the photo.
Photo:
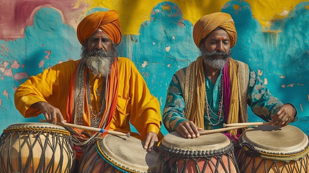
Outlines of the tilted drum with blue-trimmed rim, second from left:
M83 152L79 173L155 173L158 153L134 137L107 135Z

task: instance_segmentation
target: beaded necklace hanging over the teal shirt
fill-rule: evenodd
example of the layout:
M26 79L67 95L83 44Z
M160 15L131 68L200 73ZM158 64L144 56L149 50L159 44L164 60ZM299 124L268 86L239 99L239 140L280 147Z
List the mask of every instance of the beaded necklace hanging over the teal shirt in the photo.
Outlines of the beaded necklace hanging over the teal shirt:
M219 106L218 106L218 114L214 113L213 110L210 108L209 104L208 104L208 101L207 101L207 93L205 91L205 112L207 114L207 119L209 121L209 123L213 126L216 126L218 124L220 124L220 120L221 118L223 118L223 75L221 75L221 79L220 79L220 85L219 85L219 88L220 88L220 101L219 101ZM218 119L216 119L214 116L218 116ZM214 121L217 121L217 123L213 124L211 122L211 119L214 120Z

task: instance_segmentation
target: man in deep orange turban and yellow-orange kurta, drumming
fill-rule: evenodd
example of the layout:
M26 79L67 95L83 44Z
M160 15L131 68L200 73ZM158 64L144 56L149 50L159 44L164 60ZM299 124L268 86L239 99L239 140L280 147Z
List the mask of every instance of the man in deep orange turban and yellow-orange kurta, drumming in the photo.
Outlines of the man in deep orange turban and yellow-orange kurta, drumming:
M53 124L67 122L129 133L131 123L139 133L133 136L144 140L144 148L151 151L162 138L159 102L135 65L117 57L116 46L121 41L118 13L109 10L86 16L77 27L77 38L82 58L30 77L15 92L16 108L25 117L42 113ZM77 160L94 138L106 135L73 130Z

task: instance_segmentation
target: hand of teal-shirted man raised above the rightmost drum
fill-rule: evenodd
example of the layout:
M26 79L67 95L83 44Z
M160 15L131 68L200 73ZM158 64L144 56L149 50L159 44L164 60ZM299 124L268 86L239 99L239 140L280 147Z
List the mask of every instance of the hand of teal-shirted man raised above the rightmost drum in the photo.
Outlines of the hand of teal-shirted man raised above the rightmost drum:
M283 104L280 109L272 115L271 126L286 126L288 125L295 116L296 112L291 104Z

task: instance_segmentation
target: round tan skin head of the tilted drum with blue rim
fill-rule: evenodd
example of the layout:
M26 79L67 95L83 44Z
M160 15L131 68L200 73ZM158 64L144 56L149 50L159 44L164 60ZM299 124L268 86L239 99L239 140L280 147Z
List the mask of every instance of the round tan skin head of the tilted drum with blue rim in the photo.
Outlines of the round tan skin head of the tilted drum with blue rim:
M99 145L99 146L98 146ZM97 142L101 157L119 170L129 173L154 173L158 153L144 149L144 142L134 137L107 135Z

